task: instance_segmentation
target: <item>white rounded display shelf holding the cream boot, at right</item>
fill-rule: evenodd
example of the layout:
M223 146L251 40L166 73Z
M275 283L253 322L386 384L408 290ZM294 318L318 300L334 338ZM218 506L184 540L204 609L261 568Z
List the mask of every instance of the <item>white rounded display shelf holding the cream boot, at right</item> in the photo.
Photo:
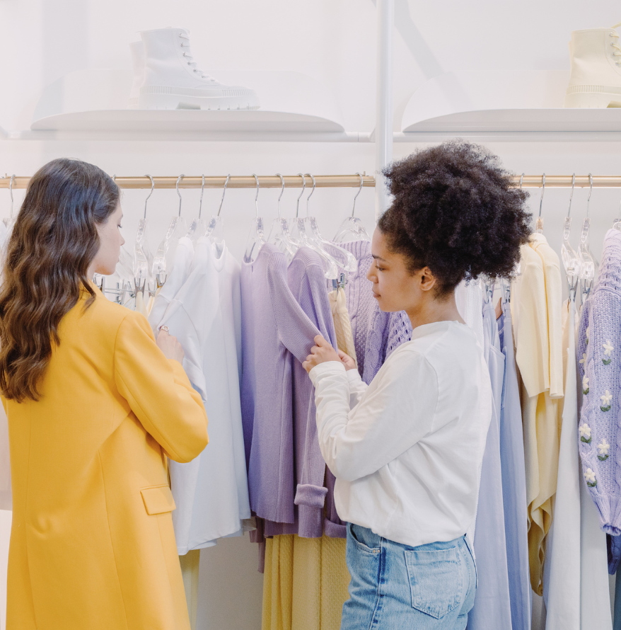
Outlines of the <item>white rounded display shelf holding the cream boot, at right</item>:
M406 137L463 134L511 138L610 139L621 109L563 108L569 71L449 72L422 85L402 118ZM419 135L420 134L420 135Z

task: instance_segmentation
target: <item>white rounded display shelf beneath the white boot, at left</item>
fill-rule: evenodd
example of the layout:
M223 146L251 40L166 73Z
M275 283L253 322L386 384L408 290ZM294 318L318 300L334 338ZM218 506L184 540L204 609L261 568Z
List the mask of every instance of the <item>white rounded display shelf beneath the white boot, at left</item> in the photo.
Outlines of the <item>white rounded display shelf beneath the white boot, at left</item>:
M129 110L132 73L88 70L66 74L42 94L29 132L8 137L45 139L228 139L253 134L344 134L342 114L319 81L290 71L210 71L224 84L257 92L258 110ZM350 140L354 141L354 139Z

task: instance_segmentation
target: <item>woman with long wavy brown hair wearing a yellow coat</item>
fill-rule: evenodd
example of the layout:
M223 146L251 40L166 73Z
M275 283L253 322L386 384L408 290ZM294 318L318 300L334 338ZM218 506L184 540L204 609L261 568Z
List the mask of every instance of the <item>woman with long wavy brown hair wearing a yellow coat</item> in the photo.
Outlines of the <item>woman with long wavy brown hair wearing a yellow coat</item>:
M207 445L183 351L91 282L123 238L119 189L57 159L30 181L0 288L13 524L7 630L187 630L166 456Z

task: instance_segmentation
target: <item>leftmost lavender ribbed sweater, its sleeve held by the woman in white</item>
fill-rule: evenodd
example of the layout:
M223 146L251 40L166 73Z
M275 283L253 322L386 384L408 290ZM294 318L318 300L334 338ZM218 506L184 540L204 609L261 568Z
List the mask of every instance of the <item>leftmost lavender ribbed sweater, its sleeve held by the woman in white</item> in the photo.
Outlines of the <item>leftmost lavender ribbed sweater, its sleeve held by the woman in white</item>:
M291 293L286 258L272 245L262 246L254 263L242 263L241 299L241 411L250 507L267 520L294 524L291 355L306 360L319 331Z

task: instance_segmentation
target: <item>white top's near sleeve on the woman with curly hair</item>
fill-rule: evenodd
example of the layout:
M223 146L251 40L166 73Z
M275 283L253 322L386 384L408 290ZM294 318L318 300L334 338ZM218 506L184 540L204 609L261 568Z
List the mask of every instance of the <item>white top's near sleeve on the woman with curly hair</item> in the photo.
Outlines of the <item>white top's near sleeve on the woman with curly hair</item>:
M337 479L355 481L378 471L427 435L434 423L438 379L418 353L393 355L351 411L342 364L321 363L310 378L321 452Z

